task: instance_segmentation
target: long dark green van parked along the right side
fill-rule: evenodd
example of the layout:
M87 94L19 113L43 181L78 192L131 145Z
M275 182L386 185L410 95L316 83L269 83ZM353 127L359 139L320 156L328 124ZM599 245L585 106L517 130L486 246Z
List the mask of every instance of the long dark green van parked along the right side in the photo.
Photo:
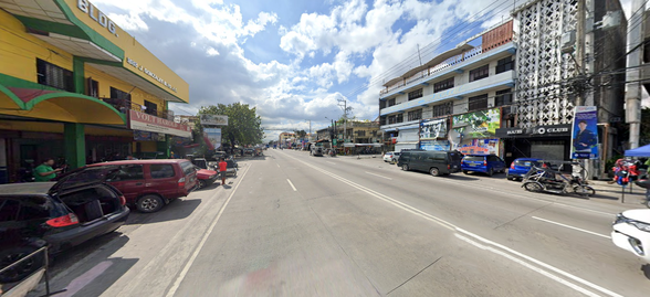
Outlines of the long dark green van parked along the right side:
M433 177L460 172L462 155L458 151L402 151L397 166L402 170L417 170L431 173Z

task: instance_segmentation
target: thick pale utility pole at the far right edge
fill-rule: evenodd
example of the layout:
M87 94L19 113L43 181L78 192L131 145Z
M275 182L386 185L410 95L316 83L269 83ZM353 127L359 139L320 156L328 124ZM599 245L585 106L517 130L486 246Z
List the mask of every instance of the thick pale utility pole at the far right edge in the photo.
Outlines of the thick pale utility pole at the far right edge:
M626 123L630 125L629 148L635 149L639 147L639 137L641 134L641 83L639 82L639 66L641 65L641 47L638 46L643 39L643 14L646 13L646 1L632 0L632 17L629 20L628 26L628 46L635 49L628 55L628 71L626 79Z

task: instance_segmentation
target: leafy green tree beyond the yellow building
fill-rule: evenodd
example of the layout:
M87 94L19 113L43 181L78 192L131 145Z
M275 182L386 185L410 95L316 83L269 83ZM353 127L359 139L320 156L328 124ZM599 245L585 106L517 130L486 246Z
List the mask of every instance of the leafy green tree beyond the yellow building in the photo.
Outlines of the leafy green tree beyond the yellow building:
M222 141L231 147L235 145L258 145L264 138L262 118L258 115L256 107L251 108L248 104L233 103L202 106L199 109L200 115L228 116L228 126L221 127L221 137Z

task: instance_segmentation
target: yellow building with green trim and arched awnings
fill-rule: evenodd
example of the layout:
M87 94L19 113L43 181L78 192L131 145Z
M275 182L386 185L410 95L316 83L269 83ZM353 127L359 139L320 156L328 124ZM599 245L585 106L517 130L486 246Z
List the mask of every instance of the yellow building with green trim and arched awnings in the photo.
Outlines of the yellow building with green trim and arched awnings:
M188 83L87 0L0 2L0 183L45 157L167 155L191 137L169 102Z

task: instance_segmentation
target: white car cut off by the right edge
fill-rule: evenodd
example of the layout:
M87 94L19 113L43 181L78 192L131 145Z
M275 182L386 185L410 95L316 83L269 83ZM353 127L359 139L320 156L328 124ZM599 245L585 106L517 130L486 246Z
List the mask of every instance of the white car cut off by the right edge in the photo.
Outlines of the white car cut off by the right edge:
M650 264L650 210L629 210L616 216L611 241Z

